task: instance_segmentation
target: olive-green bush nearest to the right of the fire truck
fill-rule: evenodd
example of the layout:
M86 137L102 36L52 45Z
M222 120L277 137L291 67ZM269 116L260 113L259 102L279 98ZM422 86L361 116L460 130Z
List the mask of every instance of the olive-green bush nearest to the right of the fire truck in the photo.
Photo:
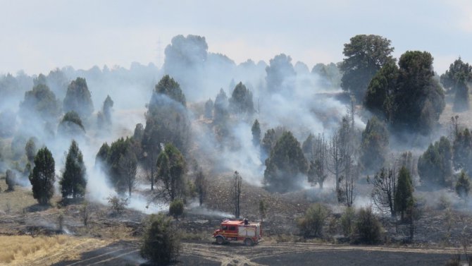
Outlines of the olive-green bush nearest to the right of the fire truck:
M315 203L306 210L304 217L298 219L297 226L304 237L320 237L323 233L326 217L328 217L326 207L320 203Z

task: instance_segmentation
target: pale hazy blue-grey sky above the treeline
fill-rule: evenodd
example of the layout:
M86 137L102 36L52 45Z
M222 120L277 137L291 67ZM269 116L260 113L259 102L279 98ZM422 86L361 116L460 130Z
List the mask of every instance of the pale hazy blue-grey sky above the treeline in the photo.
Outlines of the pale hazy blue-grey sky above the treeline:
M309 68L341 61L354 35L382 35L397 57L430 52L442 73L458 56L472 63L472 1L0 0L0 73L162 64L180 34L236 63L283 52Z

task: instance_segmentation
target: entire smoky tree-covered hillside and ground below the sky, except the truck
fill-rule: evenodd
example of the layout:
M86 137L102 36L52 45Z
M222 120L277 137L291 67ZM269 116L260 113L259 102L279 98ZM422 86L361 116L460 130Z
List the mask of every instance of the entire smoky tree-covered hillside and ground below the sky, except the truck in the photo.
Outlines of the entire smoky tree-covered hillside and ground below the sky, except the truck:
M340 62L236 64L177 35L162 67L1 75L0 262L118 246L117 265L303 265L290 256L333 245L471 265L472 66L394 51L355 35ZM215 246L223 218L261 222L264 241ZM80 248L38 251L63 243Z

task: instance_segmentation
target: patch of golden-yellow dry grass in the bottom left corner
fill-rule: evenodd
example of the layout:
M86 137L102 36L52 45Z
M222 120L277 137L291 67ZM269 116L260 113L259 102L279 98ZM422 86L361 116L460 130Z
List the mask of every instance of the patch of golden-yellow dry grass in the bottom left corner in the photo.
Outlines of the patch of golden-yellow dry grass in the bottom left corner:
M0 236L0 265L51 265L80 258L80 253L110 241L73 236Z

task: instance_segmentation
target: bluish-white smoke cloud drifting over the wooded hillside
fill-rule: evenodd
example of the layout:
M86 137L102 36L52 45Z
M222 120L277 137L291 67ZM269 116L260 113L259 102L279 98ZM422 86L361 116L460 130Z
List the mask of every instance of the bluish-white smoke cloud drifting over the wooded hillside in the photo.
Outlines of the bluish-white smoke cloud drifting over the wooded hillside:
M21 137L18 144L20 155L26 140L35 137L37 147L46 145L51 150L56 160L56 174L61 176L66 152L71 140L75 139L87 167L87 199L106 204L106 198L116 195L116 192L108 183L106 174L95 164L95 156L103 143L111 144L120 137L132 136L137 123L145 124L144 114L154 86L166 74L180 83L189 103L187 111L188 117L192 119L192 148L198 153L196 157L199 163L211 164L216 173L239 171L244 181L254 186L263 185L265 169L261 149L252 143L251 126L255 119L261 123L262 136L269 128L282 126L292 131L302 143L309 133L333 133L346 113L347 102L339 97L342 94L340 88L323 85L327 84L326 78L310 72L309 67L302 62L293 66L290 56L276 55L269 64L248 59L237 65L228 56L207 50L204 37L177 36L166 48L166 61L162 69L153 64L144 66L137 63L130 68L95 66L89 70L75 70L66 66L48 75L30 77L18 73L1 77L0 90L5 97L1 99L0 123L4 125L8 121L15 121L6 124L11 132L2 131L1 171L14 168L22 172L25 169L25 159L11 155L13 136ZM85 119L85 133L58 133L57 125L62 119L62 111L57 116L51 114L44 117L44 114L37 116L34 110L26 112L20 108L21 102L25 100L25 92L32 90L37 82L48 85L61 107L68 84L77 77L87 80L95 109L92 117ZM199 106L203 106L207 99L214 101L221 89L230 98L239 82L251 91L255 110L252 114L242 115L228 109L228 134L221 140L213 121L203 118L204 113ZM111 126L103 128L97 125L97 114L107 95L114 104ZM5 119L13 116L14 119ZM364 124L359 121L358 126L363 128ZM139 186L148 186L147 181L139 182ZM129 207L146 213L167 208L150 205L149 199L139 193L132 196Z

